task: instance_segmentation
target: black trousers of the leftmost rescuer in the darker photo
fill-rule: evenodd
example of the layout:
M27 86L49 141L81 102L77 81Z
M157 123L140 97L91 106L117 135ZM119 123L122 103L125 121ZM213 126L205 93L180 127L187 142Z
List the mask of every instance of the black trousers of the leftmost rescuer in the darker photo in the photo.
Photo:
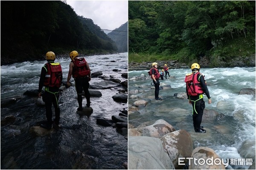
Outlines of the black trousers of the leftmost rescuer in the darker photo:
M59 97L59 92L49 92L49 91L45 91L44 95L42 96L42 99L45 102L47 123L50 125L52 125L52 105L54 106L54 109L55 109L54 122L58 125L60 121L61 111L58 105L58 97Z

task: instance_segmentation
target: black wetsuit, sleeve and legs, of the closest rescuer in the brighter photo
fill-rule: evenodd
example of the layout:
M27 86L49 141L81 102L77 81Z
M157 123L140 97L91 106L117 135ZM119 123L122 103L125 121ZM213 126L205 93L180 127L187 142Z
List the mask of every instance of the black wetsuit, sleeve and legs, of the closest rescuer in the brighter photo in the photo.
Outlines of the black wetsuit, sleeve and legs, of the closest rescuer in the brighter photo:
M200 77L200 78L199 78ZM207 85L204 80L204 76L198 74L197 79L199 78L199 82L201 84L201 87L204 90L204 94L206 94L207 98L210 99L210 94L207 88ZM193 125L195 130L201 129L201 122L202 122L202 117L204 113L204 108L205 108L205 102L203 99L203 94L198 95L198 96L189 96L187 93L188 99L191 100L192 103L192 108L193 108Z

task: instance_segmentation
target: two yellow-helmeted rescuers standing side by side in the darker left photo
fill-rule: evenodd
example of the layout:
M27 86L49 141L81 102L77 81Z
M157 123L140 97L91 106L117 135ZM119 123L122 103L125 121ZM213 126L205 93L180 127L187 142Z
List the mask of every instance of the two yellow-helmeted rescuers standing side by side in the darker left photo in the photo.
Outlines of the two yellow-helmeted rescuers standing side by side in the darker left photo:
M38 97L42 98L45 102L47 122L42 123L40 126L50 130L53 127L59 127L60 123L60 108L58 105L59 88L62 84L62 69L59 62L54 62L56 55L52 51L46 53L47 63L41 69L41 75L38 87ZM87 100L87 107L90 107L90 67L84 57L79 57L77 51L70 52L70 65L67 76L67 86L70 86L71 77L75 80L77 100L79 108L77 111L82 111L82 91L84 90L85 98ZM44 93L42 89L44 88ZM52 121L52 105L55 109L55 119Z

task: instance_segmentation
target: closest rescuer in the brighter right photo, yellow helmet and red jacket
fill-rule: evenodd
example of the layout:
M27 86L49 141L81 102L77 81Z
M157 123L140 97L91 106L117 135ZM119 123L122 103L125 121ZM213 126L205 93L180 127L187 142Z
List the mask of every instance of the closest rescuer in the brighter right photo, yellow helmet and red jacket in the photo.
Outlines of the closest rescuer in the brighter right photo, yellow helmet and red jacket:
M205 103L203 99L203 94L208 98L208 104L212 103L204 76L199 72L200 65L198 63L193 63L191 65L192 73L186 74L186 94L189 99L189 104L192 104L192 116L194 130L197 133L205 133L206 130L201 126L202 117L204 113Z

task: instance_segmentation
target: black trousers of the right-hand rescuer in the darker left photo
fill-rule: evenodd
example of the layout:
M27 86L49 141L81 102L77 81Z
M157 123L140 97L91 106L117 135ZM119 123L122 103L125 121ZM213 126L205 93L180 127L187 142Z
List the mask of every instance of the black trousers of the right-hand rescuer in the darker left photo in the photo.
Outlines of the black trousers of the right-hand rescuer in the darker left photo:
M87 104L90 104L90 92L89 92L89 80L88 77L84 78L76 78L75 79L75 84L76 84L76 93L77 93L77 101L79 104L79 108L81 108L82 105L82 92L84 90L85 98L87 101Z

